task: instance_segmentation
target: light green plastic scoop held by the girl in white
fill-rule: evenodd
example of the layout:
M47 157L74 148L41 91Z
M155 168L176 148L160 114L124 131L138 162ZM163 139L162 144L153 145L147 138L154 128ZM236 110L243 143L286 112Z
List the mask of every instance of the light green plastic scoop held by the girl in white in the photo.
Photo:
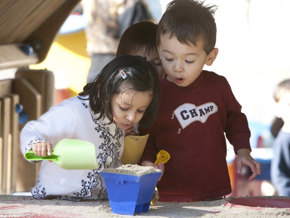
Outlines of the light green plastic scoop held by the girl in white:
M55 145L50 156L38 156L30 150L25 153L25 158L28 161L54 161L66 170L99 169L95 145L83 140L65 138Z

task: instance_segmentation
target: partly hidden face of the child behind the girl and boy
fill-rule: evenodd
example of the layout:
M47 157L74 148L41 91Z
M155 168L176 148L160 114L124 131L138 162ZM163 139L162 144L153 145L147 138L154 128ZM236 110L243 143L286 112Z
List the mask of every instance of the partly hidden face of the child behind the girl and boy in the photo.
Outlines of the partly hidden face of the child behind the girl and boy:
M159 58L159 53L158 53L158 49L156 46L156 50L151 51L150 53L145 51L145 48L143 48L140 51L136 51L133 55L139 55L142 57L146 57L147 61L152 61L156 64L157 68L158 68L158 73L159 73L159 80L164 78L165 75L165 71L164 68L162 66L162 62Z

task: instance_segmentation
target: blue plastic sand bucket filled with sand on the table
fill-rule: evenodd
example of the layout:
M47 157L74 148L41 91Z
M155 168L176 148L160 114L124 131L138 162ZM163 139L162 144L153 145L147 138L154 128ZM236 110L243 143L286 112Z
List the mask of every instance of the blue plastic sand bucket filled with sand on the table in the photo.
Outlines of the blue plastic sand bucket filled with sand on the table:
M132 176L101 172L113 213L134 215L148 212L155 186L162 172Z

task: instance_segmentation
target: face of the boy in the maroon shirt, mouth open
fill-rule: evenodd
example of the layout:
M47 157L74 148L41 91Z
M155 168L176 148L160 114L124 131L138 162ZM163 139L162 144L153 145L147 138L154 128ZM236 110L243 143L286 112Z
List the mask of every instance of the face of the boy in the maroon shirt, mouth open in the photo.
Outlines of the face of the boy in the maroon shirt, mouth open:
M186 87L200 75L204 64L208 63L209 55L206 55L201 40L196 46L180 43L177 38L170 34L161 35L158 52L166 79L174 82L177 86Z

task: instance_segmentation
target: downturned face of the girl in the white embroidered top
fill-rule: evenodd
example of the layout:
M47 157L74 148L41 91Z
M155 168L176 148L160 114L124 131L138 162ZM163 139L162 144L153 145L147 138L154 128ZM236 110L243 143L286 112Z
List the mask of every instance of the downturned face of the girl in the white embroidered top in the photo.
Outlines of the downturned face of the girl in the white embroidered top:
M117 127L129 129L137 124L152 100L151 92L127 89L111 99L113 118Z

